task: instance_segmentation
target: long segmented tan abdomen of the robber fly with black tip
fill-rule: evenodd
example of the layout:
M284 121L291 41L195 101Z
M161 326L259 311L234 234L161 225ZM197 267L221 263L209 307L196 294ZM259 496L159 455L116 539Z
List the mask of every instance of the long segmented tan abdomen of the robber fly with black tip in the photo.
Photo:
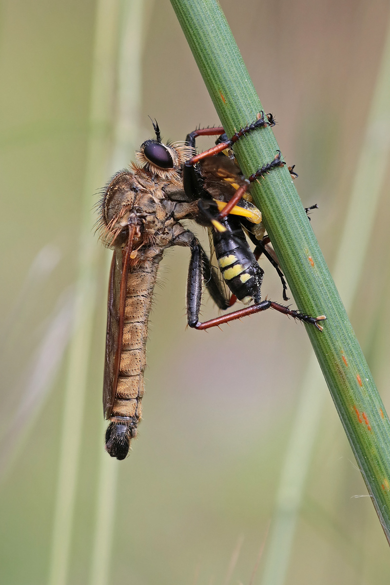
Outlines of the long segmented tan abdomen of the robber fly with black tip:
M111 424L106 432L106 448L118 459L123 459L127 455L130 440L137 435L137 425L141 419L147 322L157 270L158 263L148 259L141 266L133 268L127 277L118 385L110 418Z

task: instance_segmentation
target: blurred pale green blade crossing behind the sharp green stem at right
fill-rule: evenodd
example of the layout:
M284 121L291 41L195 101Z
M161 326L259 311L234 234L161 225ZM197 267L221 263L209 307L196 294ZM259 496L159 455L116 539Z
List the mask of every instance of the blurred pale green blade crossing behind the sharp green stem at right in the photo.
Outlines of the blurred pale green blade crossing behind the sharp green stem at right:
M370 252L389 155L390 22L333 270L334 281L347 311L353 308L363 276L364 260ZM357 226L364 226L364 229ZM310 356L281 472L263 585L282 585L287 580L296 521L325 403L325 389L316 359Z

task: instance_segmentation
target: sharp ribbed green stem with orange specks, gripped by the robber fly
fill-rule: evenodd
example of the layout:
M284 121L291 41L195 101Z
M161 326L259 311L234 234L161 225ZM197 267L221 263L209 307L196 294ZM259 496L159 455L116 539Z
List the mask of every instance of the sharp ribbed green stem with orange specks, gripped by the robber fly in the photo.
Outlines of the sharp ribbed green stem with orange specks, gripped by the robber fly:
M227 135L263 108L215 0L171 0ZM260 18L260 17L259 17ZM274 158L271 129L234 147L244 174ZM300 311L325 314L322 333L306 325L310 342L348 440L390 542L390 423L339 293L306 218L288 169L278 168L251 189Z

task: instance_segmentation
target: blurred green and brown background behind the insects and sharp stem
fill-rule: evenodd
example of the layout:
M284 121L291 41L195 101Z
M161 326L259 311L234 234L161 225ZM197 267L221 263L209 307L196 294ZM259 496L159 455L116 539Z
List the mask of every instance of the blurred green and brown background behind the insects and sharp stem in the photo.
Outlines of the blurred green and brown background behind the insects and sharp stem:
M312 227L332 269L388 2L221 5L264 108L277 119L284 157L296 164L302 202L319 204ZM4 0L0 17L0 582L247 585L260 550L251 583L265 584L268 529L311 352L303 326L270 311L223 331L187 329L188 251L170 250L150 318L139 438L124 462L103 452L108 253L89 211L125 164L123 153L130 162L151 137L149 115L165 140L218 124L170 2ZM127 69L123 54L131 56ZM99 55L108 75L96 87ZM91 100L104 118L92 126ZM120 103L130 102L123 114ZM385 405L387 185L350 311ZM356 230L365 232L364 221ZM64 404L80 251L93 284L91 302L76 315L89 311L92 320L80 354L88 368L85 407L82 397L73 400L73 420L82 417L73 429ZM278 277L263 266L263 294L280 301ZM215 314L205 294L203 317ZM388 545L328 394L310 460L284 580L274 583L388 583ZM74 491L61 492L73 473Z

